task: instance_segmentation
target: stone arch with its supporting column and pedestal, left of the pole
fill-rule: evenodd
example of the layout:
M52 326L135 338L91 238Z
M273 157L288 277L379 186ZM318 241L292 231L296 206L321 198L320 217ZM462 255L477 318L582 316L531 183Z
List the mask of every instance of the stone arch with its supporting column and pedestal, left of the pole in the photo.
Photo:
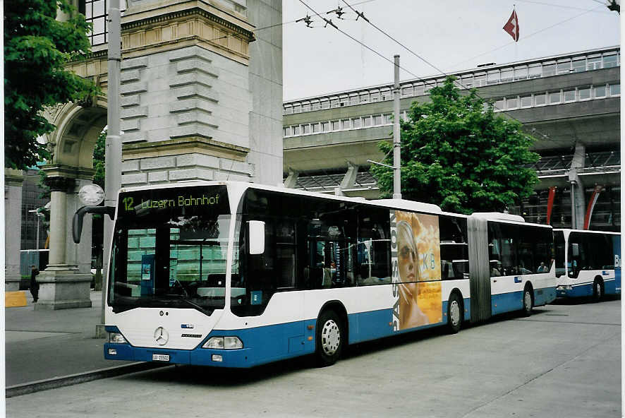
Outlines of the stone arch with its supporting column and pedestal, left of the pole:
M71 222L83 206L78 191L92 183L93 150L107 124L106 98L97 97L93 104L62 104L46 115L56 130L47 136L51 158L42 167L51 190L50 253L49 264L38 278L37 310L91 306L91 236L83 232L80 244L75 244ZM85 217L83 231L90 230L91 217Z

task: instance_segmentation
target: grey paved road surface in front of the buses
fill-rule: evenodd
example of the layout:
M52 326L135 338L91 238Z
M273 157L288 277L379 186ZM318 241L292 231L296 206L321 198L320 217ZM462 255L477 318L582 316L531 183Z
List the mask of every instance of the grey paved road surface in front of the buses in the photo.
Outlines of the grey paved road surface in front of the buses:
M165 367L6 399L7 417L621 417L621 300L560 301L334 366Z

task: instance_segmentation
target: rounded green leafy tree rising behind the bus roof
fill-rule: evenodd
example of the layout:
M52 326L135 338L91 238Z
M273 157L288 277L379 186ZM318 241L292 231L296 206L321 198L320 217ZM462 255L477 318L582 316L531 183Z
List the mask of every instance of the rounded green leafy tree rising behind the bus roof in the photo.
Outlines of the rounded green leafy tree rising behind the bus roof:
M502 211L532 193L538 161L535 138L518 121L493 113L475 90L461 95L449 77L430 90L430 101L413 102L401 121L402 198L435 203L456 213ZM392 144L380 143L392 165ZM373 165L382 196L392 196L393 173Z

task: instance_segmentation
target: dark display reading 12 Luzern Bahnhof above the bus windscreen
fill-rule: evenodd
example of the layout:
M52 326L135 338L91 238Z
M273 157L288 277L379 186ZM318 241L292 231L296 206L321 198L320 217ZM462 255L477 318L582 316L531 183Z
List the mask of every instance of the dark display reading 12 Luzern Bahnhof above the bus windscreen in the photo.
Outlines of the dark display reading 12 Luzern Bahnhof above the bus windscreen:
M219 215L230 212L226 186L190 186L131 191L119 194L118 219L172 219L183 215Z

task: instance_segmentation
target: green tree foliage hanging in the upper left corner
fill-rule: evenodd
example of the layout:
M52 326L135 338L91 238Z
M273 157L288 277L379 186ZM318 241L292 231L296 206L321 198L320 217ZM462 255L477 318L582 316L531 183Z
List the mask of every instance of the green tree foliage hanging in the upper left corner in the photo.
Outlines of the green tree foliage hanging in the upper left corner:
M56 20L57 11L69 16ZM49 157L38 136L55 129L44 107L89 102L95 84L63 66L90 52L91 24L69 0L4 2L4 165L25 169Z

